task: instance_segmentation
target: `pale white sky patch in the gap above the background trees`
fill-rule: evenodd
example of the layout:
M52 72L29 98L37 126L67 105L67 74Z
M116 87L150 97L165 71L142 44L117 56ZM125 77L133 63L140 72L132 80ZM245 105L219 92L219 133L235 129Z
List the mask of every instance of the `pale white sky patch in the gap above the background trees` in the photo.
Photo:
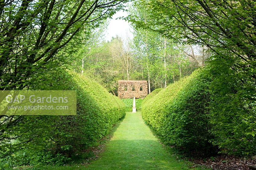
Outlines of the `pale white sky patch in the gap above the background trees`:
M122 37L122 39L125 41L126 37L130 38L132 40L132 27L129 25L128 21L122 20L122 19L116 19L118 17L126 17L128 14L126 11L118 11L115 15L113 15L113 19L110 19L109 25L107 27L106 33L105 33L105 40L110 41L112 37L116 37L118 35L119 37Z

